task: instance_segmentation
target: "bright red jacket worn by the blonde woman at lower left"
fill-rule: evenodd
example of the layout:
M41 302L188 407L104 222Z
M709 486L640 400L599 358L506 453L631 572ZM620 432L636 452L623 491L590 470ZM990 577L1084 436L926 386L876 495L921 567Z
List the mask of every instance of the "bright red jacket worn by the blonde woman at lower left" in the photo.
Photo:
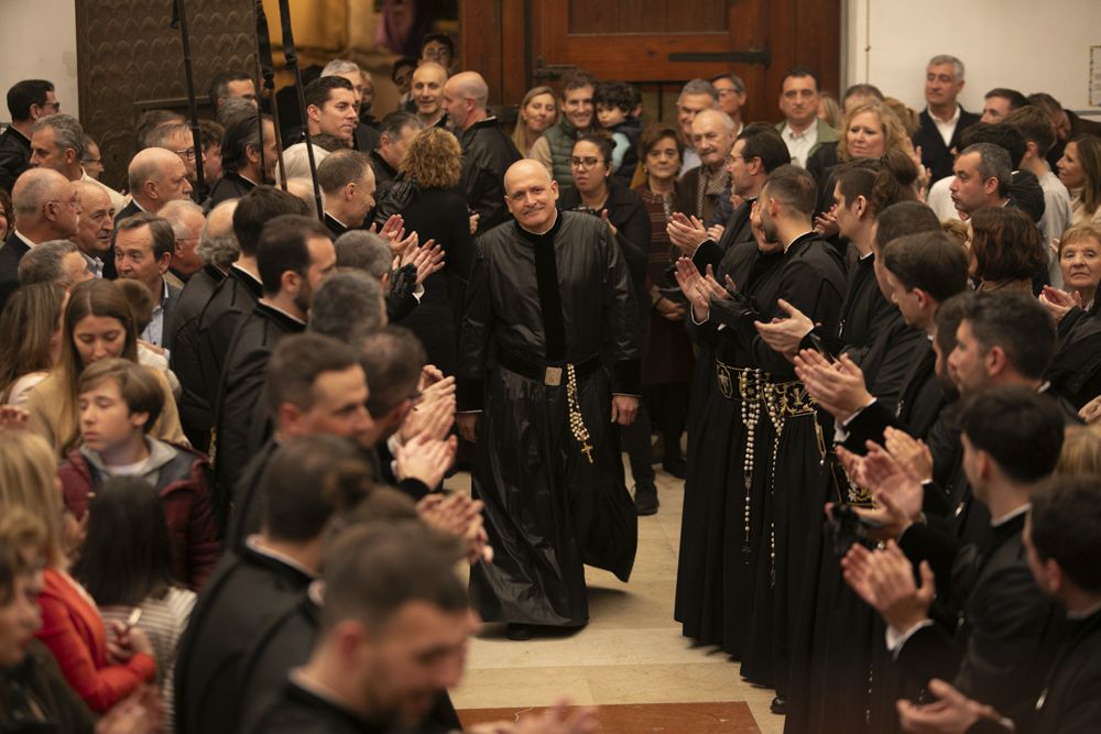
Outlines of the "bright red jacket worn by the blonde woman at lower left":
M134 653L122 665L107 664L107 627L99 610L75 581L54 569L43 574L39 609L42 627L36 637L54 654L65 680L92 711L107 711L156 678L156 662L144 653Z

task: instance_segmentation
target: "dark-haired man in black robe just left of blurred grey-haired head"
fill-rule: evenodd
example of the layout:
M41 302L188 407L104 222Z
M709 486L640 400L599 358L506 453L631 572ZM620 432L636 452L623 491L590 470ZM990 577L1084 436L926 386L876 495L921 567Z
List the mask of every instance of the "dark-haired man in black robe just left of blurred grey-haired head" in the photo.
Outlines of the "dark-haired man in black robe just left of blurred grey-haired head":
M261 399L264 368L280 339L305 331L314 293L334 267L333 240L316 219L283 215L264 224L257 247L263 297L241 320L226 352L215 404L216 470L222 493L271 432L271 416Z

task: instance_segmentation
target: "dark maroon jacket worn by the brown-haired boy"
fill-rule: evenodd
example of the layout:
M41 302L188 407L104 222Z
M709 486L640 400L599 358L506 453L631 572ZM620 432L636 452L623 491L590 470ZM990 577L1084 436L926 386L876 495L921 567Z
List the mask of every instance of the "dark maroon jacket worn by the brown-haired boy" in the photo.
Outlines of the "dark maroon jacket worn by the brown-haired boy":
M210 510L209 464L201 453L165 443L150 442L150 467L141 475L161 497L172 545L173 576L198 591L221 555ZM88 494L107 478L98 457L77 449L57 470L65 506L77 519L88 512Z

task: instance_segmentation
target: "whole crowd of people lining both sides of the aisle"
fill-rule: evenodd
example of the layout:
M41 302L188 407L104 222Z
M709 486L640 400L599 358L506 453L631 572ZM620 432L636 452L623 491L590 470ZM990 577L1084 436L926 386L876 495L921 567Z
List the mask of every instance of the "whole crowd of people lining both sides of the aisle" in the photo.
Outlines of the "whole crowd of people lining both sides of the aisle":
M0 730L460 730L469 637L586 625L658 464L675 617L785 731L1095 727L1101 123L939 55L920 113L578 70L509 130L423 47L381 119L348 61L297 119L219 74L126 193L8 91Z

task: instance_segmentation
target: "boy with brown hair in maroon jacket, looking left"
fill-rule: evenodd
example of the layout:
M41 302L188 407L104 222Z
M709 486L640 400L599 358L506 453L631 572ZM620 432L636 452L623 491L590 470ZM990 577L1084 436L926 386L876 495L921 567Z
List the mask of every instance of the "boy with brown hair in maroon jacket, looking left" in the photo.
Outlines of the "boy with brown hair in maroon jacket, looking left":
M77 395L83 446L57 471L65 506L80 519L105 480L145 480L164 505L174 576L198 590L221 550L210 512L208 464L201 454L148 436L164 407L156 375L129 360L100 360L81 373Z

